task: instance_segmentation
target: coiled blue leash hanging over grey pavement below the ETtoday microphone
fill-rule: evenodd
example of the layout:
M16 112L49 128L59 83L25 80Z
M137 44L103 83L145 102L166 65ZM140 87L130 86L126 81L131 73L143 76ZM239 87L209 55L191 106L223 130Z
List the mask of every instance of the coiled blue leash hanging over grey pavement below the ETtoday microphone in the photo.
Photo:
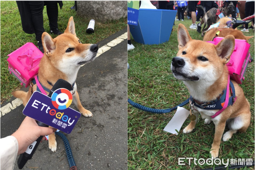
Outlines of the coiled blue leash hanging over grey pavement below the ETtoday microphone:
M64 142L66 153L67 153L68 163L70 164L70 170L76 170L76 163L75 163L75 160L73 158L73 154L72 154L72 151L71 151L70 144L67 140L67 137L61 132L55 132L55 134L60 136L61 139Z

